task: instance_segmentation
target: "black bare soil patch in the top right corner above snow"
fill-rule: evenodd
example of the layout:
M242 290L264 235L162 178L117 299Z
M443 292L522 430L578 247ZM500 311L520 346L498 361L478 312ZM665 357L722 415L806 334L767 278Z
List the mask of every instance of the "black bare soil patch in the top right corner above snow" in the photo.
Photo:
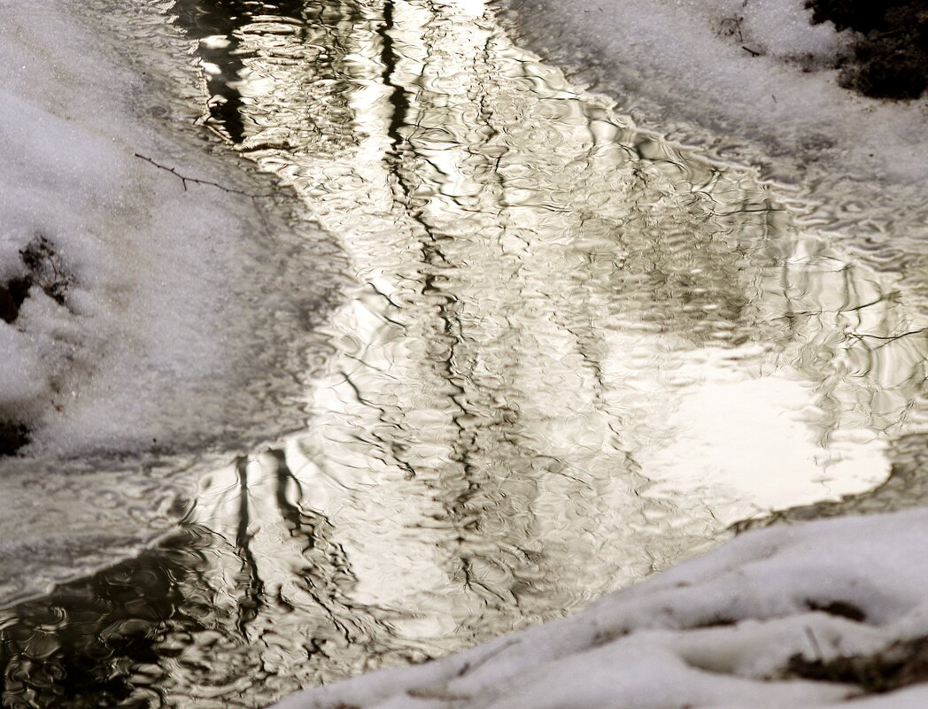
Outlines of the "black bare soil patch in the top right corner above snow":
M928 89L928 0L806 0L812 22L831 20L863 36L841 65L840 83L873 98L910 100Z

